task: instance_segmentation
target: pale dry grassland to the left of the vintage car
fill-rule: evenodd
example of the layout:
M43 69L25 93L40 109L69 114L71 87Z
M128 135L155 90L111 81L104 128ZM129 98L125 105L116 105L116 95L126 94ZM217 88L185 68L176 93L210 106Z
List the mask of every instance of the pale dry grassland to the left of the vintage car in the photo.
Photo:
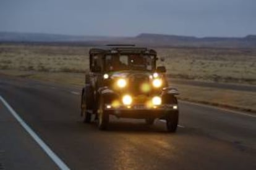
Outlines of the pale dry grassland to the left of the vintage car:
M0 69L84 72L88 47L0 46Z

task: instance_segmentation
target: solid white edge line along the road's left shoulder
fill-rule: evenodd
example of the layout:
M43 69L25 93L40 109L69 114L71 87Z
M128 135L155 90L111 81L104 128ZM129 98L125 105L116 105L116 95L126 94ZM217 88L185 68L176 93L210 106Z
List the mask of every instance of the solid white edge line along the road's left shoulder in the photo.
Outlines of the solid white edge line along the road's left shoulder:
M6 106L6 108L10 111L10 113L12 114L12 116L14 116L14 118L17 119L17 121L20 123L20 125L28 132L28 134L30 134L30 136L36 141L36 143L37 143L38 145L40 145L40 147L46 152L46 154L51 158L51 160L53 160L54 163L56 163L60 169L64 169L64 170L69 169L69 167L61 160L61 158L59 158L59 157L48 147L48 145L46 145L45 142L43 142L43 140L41 140L40 137L36 135L36 133L28 126L28 124L26 124L25 121L23 121L23 119L20 118L20 116L19 116L19 115L14 111L14 109L6 102L6 100L4 100L4 98L2 98L1 95L0 95L0 100L2 101L2 103L4 103L4 105Z

